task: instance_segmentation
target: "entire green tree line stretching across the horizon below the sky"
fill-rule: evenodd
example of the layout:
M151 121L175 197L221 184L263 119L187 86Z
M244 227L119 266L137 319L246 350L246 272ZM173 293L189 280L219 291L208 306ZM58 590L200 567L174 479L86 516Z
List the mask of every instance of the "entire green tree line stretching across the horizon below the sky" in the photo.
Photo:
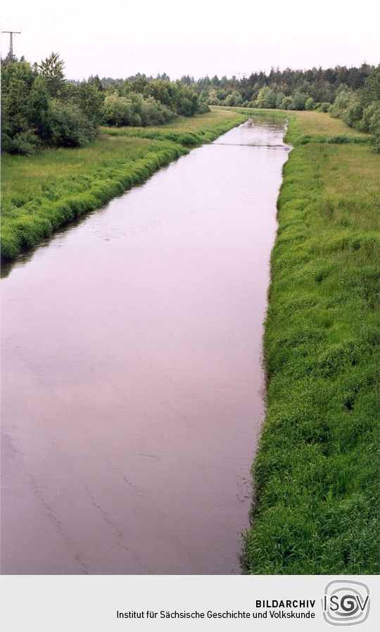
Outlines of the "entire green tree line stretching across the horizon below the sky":
M171 81L133 75L66 80L64 63L51 53L41 63L1 62L1 141L9 153L44 146L82 146L100 125L163 125L177 115L204 113L210 105L318 110L373 134L380 147L380 66L253 72L249 77L186 75Z

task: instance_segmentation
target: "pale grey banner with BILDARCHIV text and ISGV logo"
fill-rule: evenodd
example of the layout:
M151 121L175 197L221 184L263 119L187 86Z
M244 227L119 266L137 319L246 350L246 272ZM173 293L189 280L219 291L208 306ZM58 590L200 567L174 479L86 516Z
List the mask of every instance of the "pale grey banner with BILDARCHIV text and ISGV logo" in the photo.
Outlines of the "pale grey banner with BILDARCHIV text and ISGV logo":
M0 579L4 632L372 631L380 622L374 576Z

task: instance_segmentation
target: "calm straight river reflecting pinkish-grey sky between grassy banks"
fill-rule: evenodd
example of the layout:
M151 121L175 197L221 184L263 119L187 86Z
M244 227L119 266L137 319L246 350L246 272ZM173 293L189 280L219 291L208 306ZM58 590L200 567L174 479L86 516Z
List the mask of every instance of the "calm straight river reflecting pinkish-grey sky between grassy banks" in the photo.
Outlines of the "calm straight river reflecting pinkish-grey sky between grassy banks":
M5 270L1 572L241 572L287 158L250 122Z

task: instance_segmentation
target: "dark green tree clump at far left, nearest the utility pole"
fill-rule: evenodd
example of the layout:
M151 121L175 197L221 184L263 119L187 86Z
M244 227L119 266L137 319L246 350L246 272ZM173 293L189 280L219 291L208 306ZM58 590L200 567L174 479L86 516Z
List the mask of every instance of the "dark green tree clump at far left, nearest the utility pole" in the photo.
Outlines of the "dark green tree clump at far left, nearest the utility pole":
M39 67L2 63L1 78L3 151L30 155L42 146L82 146L94 138L102 96L90 84L66 84L56 53Z

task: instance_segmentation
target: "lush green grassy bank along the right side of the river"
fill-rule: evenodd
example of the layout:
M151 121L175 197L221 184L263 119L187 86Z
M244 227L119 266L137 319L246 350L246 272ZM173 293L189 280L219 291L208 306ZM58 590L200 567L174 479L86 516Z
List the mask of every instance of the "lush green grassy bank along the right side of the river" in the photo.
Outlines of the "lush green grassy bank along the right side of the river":
M248 574L376 574L380 157L312 142L328 115L307 114L288 115L301 145L278 199L243 562Z

